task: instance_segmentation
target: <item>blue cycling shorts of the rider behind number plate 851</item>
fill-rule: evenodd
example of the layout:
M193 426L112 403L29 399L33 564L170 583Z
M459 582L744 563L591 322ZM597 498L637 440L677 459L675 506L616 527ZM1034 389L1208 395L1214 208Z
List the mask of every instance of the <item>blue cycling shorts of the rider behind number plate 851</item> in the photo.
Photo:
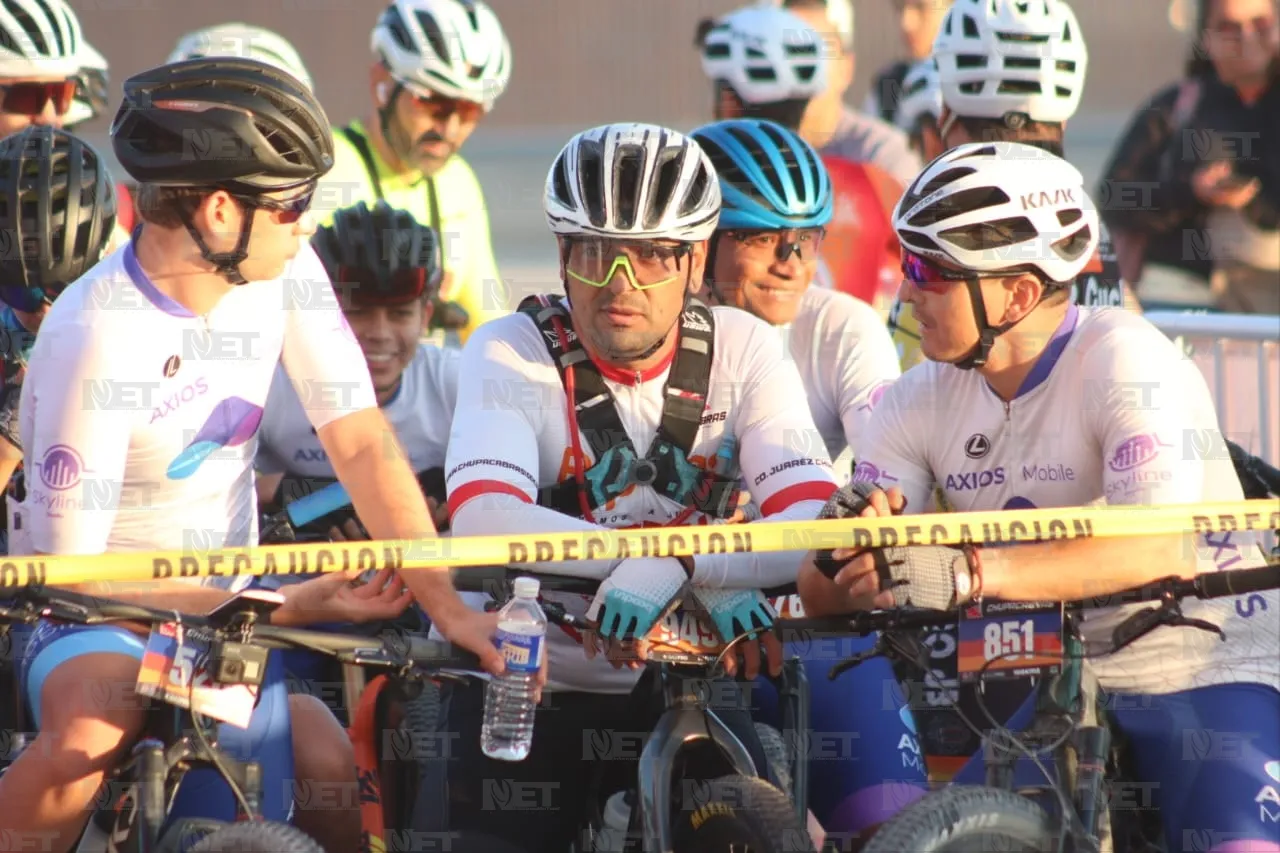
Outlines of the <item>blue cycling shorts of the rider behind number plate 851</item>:
M1034 697L1005 724L1027 726ZM1158 808L1170 850L1280 853L1280 692L1217 684L1167 695L1112 694L1107 712L1135 779L1112 808ZM1016 785L1043 785L1027 760ZM980 756L955 784L982 784ZM1116 797L1123 798L1117 800Z

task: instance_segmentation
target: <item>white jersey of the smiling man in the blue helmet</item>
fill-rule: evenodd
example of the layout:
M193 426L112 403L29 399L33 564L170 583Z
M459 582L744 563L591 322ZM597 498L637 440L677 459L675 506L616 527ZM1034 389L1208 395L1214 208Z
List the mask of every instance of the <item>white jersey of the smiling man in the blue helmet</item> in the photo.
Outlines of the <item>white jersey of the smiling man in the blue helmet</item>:
M872 409L901 375L884 321L847 293L810 286L783 336L827 455L836 459L845 447L856 455Z

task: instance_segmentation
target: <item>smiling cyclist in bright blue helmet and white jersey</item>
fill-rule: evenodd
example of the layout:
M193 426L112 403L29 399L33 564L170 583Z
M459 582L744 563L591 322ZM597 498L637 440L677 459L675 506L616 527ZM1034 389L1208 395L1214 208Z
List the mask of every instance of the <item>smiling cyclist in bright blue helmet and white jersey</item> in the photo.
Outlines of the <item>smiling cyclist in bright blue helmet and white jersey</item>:
M723 200L704 293L782 332L828 452L835 459L847 443L856 456L876 401L899 377L897 352L874 309L810 284L832 215L831 182L818 152L762 119L716 122L690 136L716 167ZM774 606L803 615L790 597ZM893 679L890 662L868 661L838 681L827 678L833 665L877 639L787 649L800 654L809 676L813 736L836 743L835 733L858 733L847 754L837 748L809 760L809 804L832 840L865 838L928 792L924 765L914 754L919 747L904 749L904 738L914 743L910 711L901 702L852 701L881 694ZM755 688L756 717L780 725L772 685L760 680Z

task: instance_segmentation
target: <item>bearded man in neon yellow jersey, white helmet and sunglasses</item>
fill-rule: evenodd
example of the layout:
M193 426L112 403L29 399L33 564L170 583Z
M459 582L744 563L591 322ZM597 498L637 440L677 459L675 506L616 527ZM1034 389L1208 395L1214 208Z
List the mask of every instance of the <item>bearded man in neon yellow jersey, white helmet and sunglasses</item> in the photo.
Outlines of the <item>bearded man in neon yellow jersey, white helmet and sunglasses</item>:
M506 91L511 45L480 0L394 0L371 50L372 115L338 128L316 213L328 224L337 209L385 200L435 231L444 278L431 327L457 345L509 310L484 193L458 149Z

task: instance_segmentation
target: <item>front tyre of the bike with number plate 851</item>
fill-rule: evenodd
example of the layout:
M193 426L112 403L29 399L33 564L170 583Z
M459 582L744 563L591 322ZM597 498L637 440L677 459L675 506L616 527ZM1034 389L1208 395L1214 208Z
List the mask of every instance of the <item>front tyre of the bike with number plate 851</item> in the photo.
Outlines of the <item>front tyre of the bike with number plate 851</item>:
M1048 853L1057 829L1044 809L998 788L945 788L900 812L863 853Z

